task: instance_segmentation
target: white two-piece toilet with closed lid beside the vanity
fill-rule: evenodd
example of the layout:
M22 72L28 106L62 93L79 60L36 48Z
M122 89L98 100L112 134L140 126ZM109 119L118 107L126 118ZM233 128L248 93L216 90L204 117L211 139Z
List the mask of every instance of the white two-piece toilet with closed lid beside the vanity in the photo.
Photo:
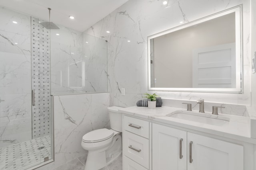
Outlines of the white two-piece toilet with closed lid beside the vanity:
M122 107L108 107L111 129L97 129L83 136L82 148L88 150L84 170L99 170L122 154L122 114L118 112L120 108Z

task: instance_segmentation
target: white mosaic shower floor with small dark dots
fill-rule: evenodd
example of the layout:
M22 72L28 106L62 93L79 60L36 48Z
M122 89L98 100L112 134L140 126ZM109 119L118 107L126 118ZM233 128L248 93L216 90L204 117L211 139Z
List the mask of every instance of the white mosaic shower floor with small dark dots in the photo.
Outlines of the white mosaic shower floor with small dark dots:
M50 135L0 148L0 170L23 170L44 162L51 154Z

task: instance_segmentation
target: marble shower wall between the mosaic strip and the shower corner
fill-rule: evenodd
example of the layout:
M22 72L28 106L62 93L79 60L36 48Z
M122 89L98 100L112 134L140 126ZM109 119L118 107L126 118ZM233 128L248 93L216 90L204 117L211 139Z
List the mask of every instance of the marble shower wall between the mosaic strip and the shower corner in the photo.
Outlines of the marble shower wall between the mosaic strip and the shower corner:
M78 93L83 89L70 88L68 78L69 66L77 66L78 62L83 61L82 33L61 25L58 27L60 29L51 30L52 94Z

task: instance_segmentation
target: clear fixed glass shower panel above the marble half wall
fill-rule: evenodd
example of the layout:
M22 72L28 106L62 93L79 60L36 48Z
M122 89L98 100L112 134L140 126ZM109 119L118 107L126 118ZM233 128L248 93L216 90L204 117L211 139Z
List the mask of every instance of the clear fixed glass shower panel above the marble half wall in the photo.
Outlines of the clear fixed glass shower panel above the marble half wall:
M107 92L106 41L58 27L51 30L52 94Z

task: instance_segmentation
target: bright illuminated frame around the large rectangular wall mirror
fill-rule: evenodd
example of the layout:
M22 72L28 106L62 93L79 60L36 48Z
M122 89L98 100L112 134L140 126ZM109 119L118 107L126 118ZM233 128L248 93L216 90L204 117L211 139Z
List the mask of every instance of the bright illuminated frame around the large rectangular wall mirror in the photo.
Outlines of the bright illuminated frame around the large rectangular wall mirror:
M235 12L235 20L236 20L236 88L155 88L151 87L151 74L150 74L150 39L155 37L159 37L161 35L165 35L167 33L171 33L186 27L190 27L192 25L196 25L198 23L202 23L204 21L212 20L214 18L218 18L220 16L224 16L226 14L230 14ZM150 35L147 37L147 48L148 48L148 90L149 91L171 91L171 92L220 92L220 93L242 93L243 91L243 50L242 50L242 5L235 6L233 8L229 8L227 10L212 14L210 16L206 16L204 18L200 18L195 21L191 21L177 27L173 27L166 31L162 31L160 33L156 33L154 35Z

